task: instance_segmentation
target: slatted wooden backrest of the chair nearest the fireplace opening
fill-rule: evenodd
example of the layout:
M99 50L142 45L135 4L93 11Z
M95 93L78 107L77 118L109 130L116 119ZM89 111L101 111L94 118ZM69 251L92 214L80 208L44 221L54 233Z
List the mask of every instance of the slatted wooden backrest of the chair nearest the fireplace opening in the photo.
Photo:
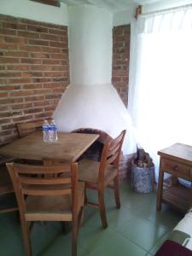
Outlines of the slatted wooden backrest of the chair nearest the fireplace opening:
M104 144L102 149L102 159L99 167L99 181L104 180L104 172L108 166L114 166L119 169L119 160L121 154L121 148L124 142L126 131L121 131L118 137L110 140Z

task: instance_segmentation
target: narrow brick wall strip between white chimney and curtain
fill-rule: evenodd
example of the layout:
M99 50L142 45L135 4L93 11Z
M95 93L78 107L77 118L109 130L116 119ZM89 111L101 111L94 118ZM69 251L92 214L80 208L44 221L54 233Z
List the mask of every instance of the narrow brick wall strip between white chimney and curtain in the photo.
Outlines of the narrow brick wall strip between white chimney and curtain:
M118 90L125 106L128 103L130 36L130 25L113 27L112 84Z

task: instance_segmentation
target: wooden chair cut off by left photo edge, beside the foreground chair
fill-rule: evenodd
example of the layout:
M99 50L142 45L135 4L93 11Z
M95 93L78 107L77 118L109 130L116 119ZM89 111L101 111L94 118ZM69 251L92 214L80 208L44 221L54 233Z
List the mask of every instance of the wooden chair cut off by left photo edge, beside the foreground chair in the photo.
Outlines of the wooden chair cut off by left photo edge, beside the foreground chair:
M15 191L14 191L11 179L9 177L8 169L5 166L5 163L10 160L13 160L13 159L6 159L3 156L0 156L0 196L1 196L1 199L3 199L4 196L6 197L8 196L8 198L6 198L7 200L9 200L9 195L10 196L15 195ZM5 206L3 205L0 206L0 212L14 212L17 210L18 210L18 207L14 202L12 202L10 206L7 203Z

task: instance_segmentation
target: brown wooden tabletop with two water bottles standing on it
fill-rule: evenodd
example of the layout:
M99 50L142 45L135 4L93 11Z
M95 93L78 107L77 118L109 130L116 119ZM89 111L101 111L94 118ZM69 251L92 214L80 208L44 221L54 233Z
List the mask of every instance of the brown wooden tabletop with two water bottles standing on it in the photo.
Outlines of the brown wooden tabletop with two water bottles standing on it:
M26 160L54 159L75 162L96 141L99 135L58 133L57 143L44 143L42 131L22 137L0 148L0 154Z

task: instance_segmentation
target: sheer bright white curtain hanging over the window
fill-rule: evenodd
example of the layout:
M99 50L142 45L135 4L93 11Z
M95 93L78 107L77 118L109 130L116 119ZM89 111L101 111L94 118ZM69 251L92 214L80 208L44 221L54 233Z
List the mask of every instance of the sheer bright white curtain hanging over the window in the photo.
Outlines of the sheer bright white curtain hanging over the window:
M140 15L132 28L128 108L157 180L157 151L192 145L192 7Z

